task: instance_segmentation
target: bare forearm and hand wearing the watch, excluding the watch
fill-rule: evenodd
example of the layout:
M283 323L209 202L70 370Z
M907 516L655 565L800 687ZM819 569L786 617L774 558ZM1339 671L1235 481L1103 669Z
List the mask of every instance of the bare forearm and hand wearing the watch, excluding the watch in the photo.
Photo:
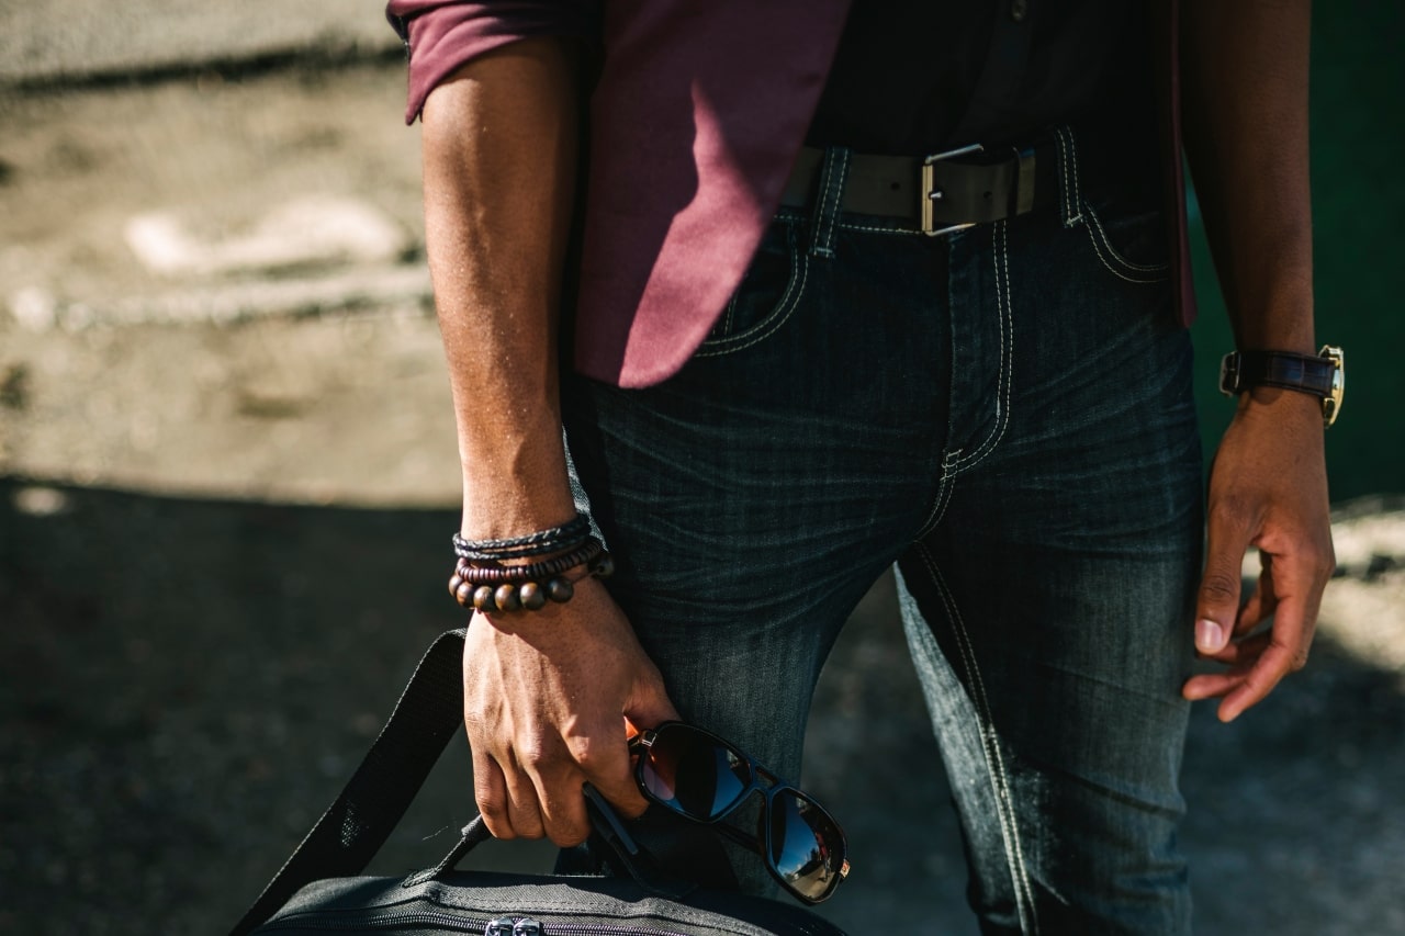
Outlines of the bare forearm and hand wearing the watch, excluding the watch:
M1309 24L1308 0L1183 1L1186 152L1241 350L1316 351ZM1333 568L1322 433L1316 398L1255 388L1215 454L1196 646L1225 668L1183 691L1221 698L1224 721L1307 663ZM1249 548L1262 573L1241 607Z

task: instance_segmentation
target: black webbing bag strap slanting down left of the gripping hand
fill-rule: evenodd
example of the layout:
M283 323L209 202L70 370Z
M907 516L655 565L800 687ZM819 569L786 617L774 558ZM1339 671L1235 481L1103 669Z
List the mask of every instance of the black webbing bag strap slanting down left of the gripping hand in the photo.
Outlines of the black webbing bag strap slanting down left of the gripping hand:
M253 930L312 881L365 870L461 731L462 659L462 630L430 645L361 766L230 936Z

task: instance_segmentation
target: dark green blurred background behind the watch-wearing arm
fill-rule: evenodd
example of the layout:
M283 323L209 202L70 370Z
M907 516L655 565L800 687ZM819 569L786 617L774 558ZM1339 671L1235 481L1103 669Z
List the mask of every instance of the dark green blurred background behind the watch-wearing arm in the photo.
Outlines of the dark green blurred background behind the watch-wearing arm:
M1312 209L1318 343L1346 350L1346 401L1326 436L1332 500L1405 492L1405 3L1318 3L1312 22ZM1215 386L1234 347L1191 204L1200 292L1196 386L1205 460L1234 405Z

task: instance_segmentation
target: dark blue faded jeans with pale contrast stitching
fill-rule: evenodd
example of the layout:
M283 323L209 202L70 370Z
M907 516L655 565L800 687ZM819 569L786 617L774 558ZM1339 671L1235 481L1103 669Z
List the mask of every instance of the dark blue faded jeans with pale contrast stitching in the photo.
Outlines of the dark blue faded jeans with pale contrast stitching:
M896 564L985 930L1186 932L1190 344L1156 200L1059 142L1055 208L936 239L837 212L833 150L684 370L568 382L568 437L686 718L798 776Z

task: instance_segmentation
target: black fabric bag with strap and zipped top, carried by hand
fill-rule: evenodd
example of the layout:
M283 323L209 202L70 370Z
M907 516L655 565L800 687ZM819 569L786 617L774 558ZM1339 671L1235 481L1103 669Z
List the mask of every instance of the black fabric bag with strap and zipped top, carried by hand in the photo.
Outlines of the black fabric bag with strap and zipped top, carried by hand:
M462 718L464 631L440 635L391 720L332 807L232 936L247 933L483 933L483 936L843 936L792 904L714 887L711 833L660 871L599 794L587 790L592 849L615 871L531 876L457 871L490 839L482 818L437 866L405 878L358 877L409 808ZM645 828L641 825L639 828ZM697 828L694 828L694 833ZM708 847L711 846L711 849ZM674 843L676 847L676 843ZM694 880L710 887L697 887ZM698 873L691 873L691 869ZM704 873L705 870L705 873Z

